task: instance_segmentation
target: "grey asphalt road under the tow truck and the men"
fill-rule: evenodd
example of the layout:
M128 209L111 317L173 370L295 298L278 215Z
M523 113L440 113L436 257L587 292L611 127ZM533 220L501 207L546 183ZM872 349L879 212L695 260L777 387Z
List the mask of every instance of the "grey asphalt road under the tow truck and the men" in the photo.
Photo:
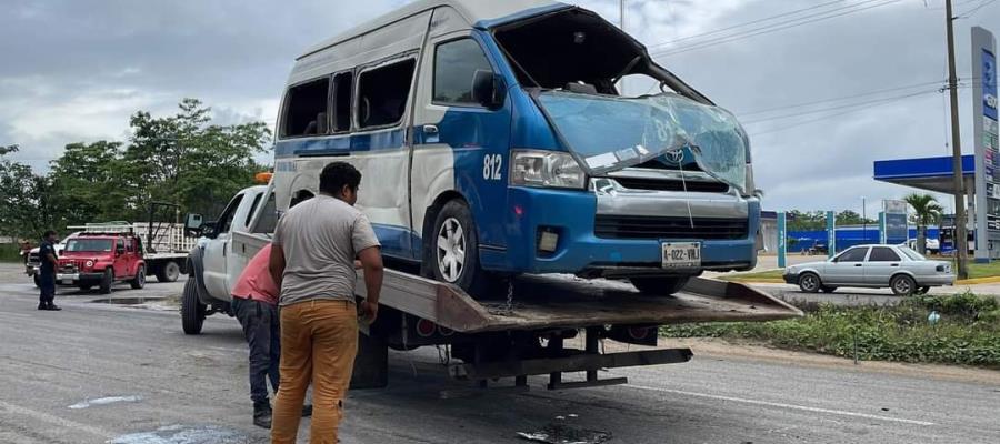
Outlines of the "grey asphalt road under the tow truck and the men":
M127 287L116 299L178 294L181 284ZM174 311L97 299L68 292L62 312L39 312L33 286L0 273L0 443L268 441L250 423L233 320L210 317L203 335L186 336ZM623 386L549 392L532 379L528 393L447 400L442 391L468 385L444 376L433 349L393 353L388 389L351 393L341 440L517 443L517 432L560 424L609 433L609 443L1000 442L1000 384L694 353L602 374L628 376Z

